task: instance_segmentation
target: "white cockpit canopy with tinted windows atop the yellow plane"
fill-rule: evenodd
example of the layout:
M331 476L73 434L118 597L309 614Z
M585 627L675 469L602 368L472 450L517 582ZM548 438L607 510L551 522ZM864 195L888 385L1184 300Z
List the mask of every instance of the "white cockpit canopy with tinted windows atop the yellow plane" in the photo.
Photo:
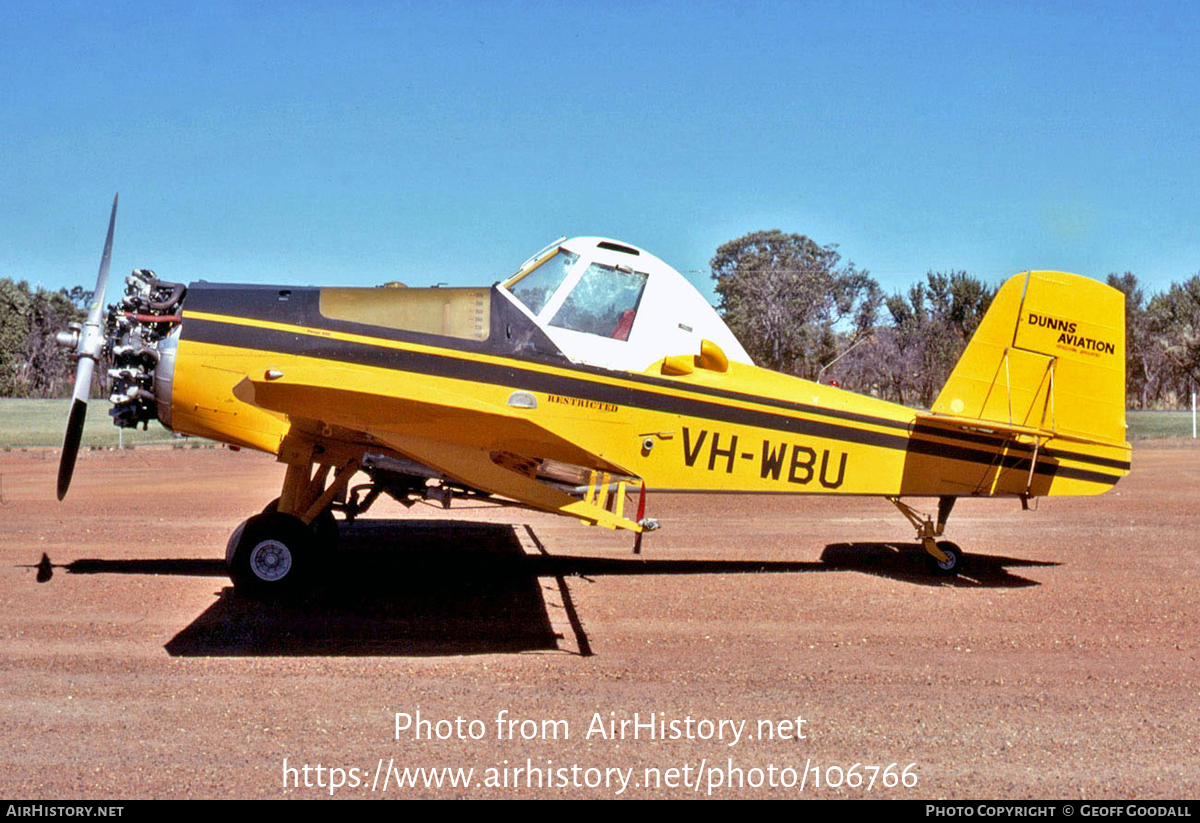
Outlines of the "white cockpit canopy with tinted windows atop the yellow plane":
M576 362L643 371L700 342L751 362L707 300L648 252L604 238L556 241L498 287Z

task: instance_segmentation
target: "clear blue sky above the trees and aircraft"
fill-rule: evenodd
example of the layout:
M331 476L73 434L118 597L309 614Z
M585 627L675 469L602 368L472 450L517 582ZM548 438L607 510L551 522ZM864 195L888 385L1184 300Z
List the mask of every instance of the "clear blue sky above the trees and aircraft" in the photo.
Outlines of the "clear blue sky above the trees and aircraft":
M707 288L779 228L888 290L1200 271L1200 4L0 4L0 276Z

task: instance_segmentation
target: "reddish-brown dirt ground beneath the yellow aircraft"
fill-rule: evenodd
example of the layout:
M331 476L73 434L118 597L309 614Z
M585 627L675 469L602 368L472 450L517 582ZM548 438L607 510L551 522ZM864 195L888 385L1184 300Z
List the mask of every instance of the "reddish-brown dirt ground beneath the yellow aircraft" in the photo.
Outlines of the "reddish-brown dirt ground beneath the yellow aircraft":
M1194 449L1136 447L1100 498L960 503L954 582L896 549L908 525L874 499L652 497L664 529L641 558L574 521L388 503L292 605L223 573L229 531L278 493L270 458L85 452L61 504L55 462L0 453L7 798L329 797L299 770L284 787L284 758L311 783L318 763L360 770L334 793L352 798L613 797L616 773L558 783L614 768L632 769L624 797L718 776L714 797L1196 797ZM395 713L418 709L480 720L482 739L396 739ZM503 710L570 737L497 739ZM752 739L589 738L594 713L745 720ZM803 739L762 739L758 721L797 716ZM372 791L380 763L475 773ZM482 785L529 763L552 785ZM827 785L856 763L880 768L874 787ZM883 786L893 763L916 787ZM806 771L803 793L770 768Z

